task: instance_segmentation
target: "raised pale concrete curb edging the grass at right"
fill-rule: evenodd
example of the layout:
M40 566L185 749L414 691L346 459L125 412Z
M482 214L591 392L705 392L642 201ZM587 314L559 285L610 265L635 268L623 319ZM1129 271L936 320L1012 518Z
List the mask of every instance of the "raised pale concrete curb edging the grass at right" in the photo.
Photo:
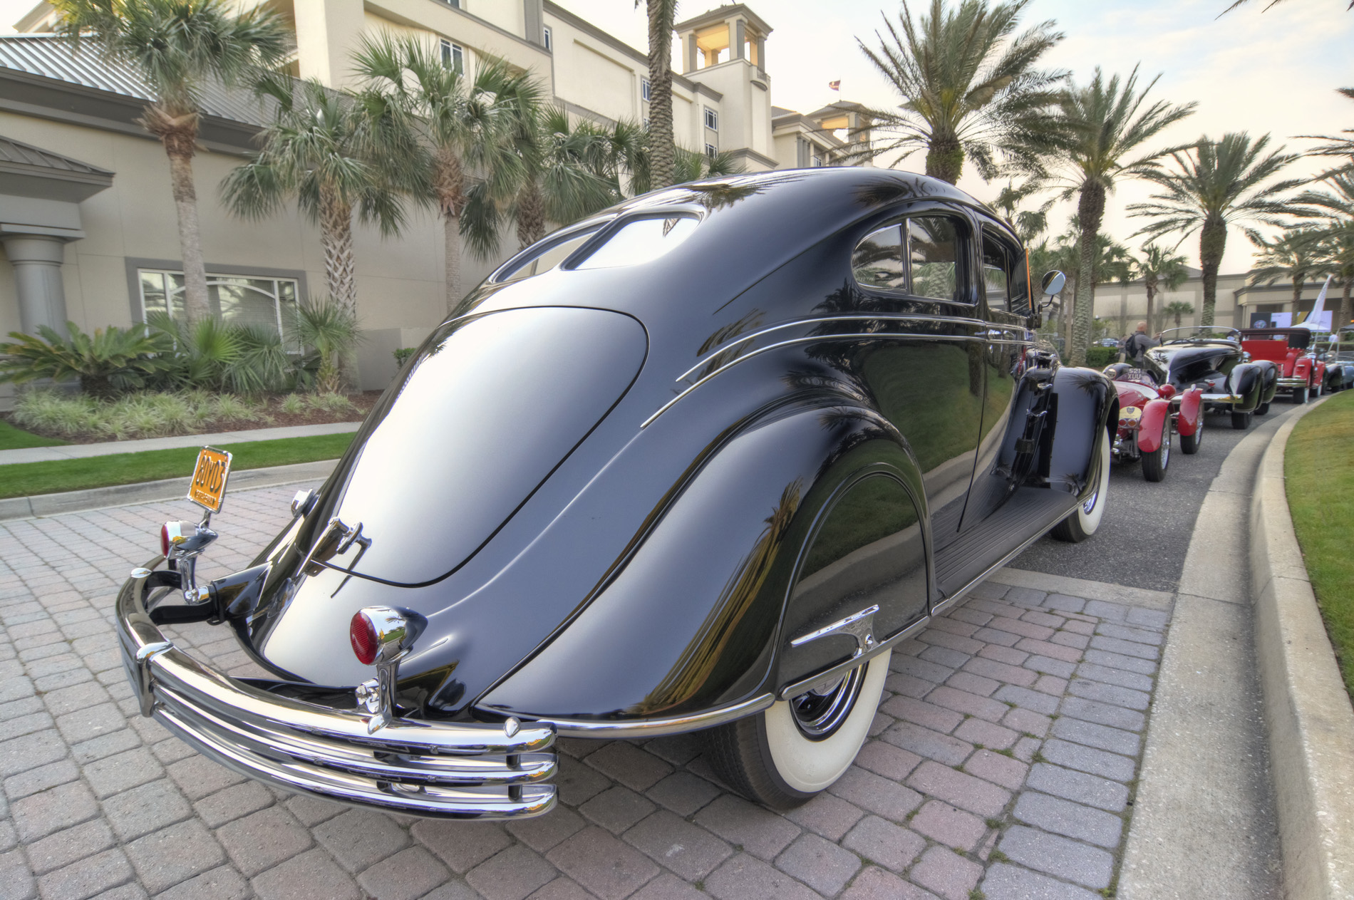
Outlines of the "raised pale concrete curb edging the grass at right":
M1284 487L1284 448L1307 411L1280 428L1261 459L1251 499L1251 590L1286 895L1336 900L1354 896L1354 708Z

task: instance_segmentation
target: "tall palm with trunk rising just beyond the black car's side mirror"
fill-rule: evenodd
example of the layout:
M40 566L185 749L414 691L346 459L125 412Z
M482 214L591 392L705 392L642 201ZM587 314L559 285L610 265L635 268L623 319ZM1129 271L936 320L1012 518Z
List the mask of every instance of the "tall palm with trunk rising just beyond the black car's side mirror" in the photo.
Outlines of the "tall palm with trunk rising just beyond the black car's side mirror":
M1070 348L1074 365L1086 360L1090 344L1094 306L1091 268L1105 218L1105 198L1117 184L1152 172L1166 150L1143 153L1143 145L1194 112L1193 103L1173 106L1166 100L1156 100L1144 108L1147 95L1159 78L1156 76L1139 91L1136 66L1124 81L1117 74L1106 81L1097 66L1090 84L1072 84L1062 93L1052 129L1024 135L1030 143L1026 153L1040 157L1041 168L1047 169L1052 183L1062 185L1063 199L1076 196L1080 258Z

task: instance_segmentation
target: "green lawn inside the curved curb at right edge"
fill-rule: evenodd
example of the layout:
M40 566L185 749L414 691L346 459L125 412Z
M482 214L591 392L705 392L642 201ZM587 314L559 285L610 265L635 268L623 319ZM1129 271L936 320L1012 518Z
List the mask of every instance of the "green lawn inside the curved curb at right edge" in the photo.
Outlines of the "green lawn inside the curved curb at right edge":
M1354 696L1354 391L1303 417L1288 441L1284 475L1307 574Z

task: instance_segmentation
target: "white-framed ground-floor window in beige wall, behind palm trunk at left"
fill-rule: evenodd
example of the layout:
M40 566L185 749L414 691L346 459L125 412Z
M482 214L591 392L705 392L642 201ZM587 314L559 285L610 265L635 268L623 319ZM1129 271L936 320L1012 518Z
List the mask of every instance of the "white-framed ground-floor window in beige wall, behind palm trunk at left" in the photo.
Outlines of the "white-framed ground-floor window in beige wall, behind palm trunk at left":
M168 313L171 319L183 315L183 272L137 269L137 282L141 321L154 313ZM207 309L226 325L265 328L292 345L291 310L295 307L297 279L207 273Z

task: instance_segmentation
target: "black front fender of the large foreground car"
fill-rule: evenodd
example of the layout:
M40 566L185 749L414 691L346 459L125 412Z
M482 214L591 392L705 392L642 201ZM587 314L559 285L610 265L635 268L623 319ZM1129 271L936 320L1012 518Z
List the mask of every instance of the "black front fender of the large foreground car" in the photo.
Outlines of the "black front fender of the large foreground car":
M1090 485L1091 467L1099 463L1101 429L1110 444L1118 430L1118 392L1099 372L1062 367L1053 374L1052 440L1048 449L1048 485L1078 497Z

